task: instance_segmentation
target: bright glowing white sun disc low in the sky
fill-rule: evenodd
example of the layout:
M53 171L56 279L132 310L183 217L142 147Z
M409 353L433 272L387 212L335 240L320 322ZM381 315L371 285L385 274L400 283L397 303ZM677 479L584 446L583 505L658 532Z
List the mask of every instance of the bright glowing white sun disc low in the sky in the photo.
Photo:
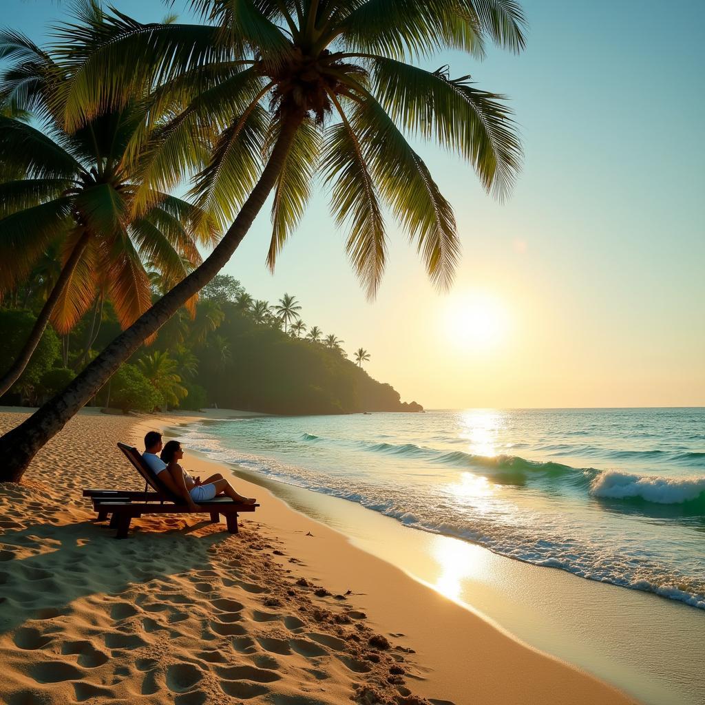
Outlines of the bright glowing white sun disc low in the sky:
M448 304L446 331L463 348L496 348L505 338L508 324L503 302L489 293L464 293Z

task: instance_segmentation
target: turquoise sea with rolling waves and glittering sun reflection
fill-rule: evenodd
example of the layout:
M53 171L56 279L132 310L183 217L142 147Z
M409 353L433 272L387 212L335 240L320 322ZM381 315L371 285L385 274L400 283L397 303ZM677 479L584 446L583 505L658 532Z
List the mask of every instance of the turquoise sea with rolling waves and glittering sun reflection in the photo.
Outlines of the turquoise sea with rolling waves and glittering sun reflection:
M427 532L705 609L705 409L252 417L187 447Z

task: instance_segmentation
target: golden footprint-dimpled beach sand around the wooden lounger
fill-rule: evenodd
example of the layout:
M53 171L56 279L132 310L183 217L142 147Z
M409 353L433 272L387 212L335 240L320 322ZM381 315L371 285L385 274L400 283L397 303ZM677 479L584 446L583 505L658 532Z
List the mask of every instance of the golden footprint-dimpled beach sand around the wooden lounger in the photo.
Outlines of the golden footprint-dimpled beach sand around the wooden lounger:
M240 478L262 507L238 535L147 515L114 539L81 489L142 489L116 442L185 420L82 413L0 486L0 701L632 702Z

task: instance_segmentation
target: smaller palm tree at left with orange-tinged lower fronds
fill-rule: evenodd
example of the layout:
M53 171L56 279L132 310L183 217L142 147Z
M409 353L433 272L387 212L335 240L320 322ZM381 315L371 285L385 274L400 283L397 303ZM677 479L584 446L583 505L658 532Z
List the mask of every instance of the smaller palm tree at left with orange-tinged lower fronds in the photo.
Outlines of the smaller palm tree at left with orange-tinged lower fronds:
M23 349L0 378L0 396L22 374L49 320L65 336L102 290L127 328L152 305L143 260L159 270L167 289L201 261L188 224L195 223L191 204L152 190L149 207L133 209L140 167L126 152L144 111L125 104L69 134L46 97L52 84L60 90L66 82L53 78L54 59L11 32L0 33L2 54L22 63L3 73L0 94L11 93L18 72L25 83L33 79L37 95L30 105L44 128L0 116L0 161L11 174L0 173L0 259L13 262L0 270L0 294L27 278L51 247L59 250L61 270ZM204 243L213 243L215 232L210 223Z

